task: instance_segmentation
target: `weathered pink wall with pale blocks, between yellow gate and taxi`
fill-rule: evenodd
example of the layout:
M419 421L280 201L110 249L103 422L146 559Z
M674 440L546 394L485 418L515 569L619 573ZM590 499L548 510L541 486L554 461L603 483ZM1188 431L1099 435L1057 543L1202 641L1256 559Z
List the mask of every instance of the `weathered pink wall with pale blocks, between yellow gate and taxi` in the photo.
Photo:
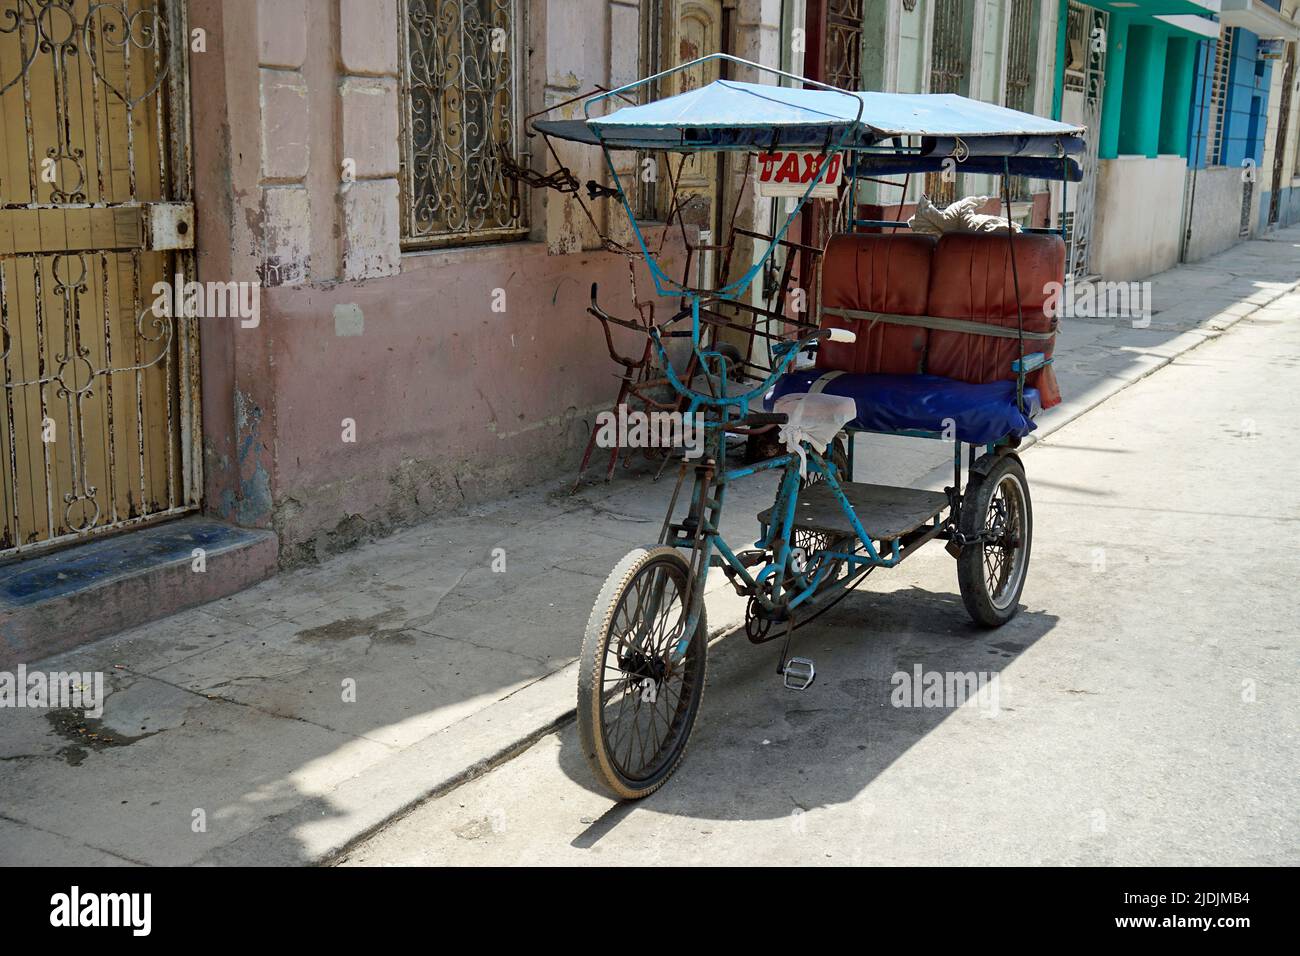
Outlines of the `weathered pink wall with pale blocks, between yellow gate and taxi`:
M338 172L358 142L395 135L347 104L360 86L389 91L367 100L374 109L396 108L395 44L376 34L396 29L395 0L190 0L187 10L207 33L207 52L190 57L199 278L263 284L257 328L202 321L207 510L274 528L281 562L300 563L573 473L618 388L588 290L599 282L602 303L630 316L625 259L592 250L572 200L537 190L529 241L398 250L396 150L370 151L348 187ZM637 16L627 0L530 3L529 111L629 78ZM594 159L582 178L601 176ZM387 206L358 212L358 195L385 190ZM676 239L670 274L681 268ZM653 294L644 271L638 290ZM342 440L344 419L355 442Z

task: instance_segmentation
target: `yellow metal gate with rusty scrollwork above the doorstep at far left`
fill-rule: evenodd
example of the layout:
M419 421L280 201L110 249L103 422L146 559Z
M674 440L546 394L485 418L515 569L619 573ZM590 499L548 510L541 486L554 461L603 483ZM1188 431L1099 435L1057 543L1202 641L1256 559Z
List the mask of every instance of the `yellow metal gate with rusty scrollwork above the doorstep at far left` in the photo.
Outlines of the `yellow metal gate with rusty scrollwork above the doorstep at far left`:
M0 0L0 555L195 507L187 46L169 0Z

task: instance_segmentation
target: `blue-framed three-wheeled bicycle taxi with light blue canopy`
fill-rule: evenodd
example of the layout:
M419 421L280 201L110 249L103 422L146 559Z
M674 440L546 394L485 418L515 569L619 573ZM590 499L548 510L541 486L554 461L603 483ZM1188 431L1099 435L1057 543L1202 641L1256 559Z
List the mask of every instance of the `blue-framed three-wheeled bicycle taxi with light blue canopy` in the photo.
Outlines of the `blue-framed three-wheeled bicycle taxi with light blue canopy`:
M720 79L638 105L612 99L625 101L707 60L796 86ZM796 627L875 568L897 566L933 538L954 555L963 604L978 624L997 627L1015 615L1034 532L1015 449L1039 411L1060 401L1048 299L1050 284L1063 281L1066 248L1062 234L1011 228L1009 179L1078 181L1074 157L1084 143L1080 127L957 95L849 92L727 55L599 92L584 111L585 120L538 121L534 129L603 151L655 291L680 306L664 321L619 320L599 308L593 287L592 312L607 334L615 323L649 336L680 407L702 415L706 429L703 457L681 463L659 540L610 574L582 643L584 753L610 792L638 799L676 769L699 710L711 567L749 598L749 639L781 640L777 672L792 689L806 689L816 675L811 661L789 656ZM809 165L807 189L755 261L722 287L699 289L659 268L615 169L612 153L620 150L812 151L820 159ZM781 315L775 329L759 332L766 363L710 345L710 326L727 324L716 304L740 300L774 252L789 245L790 224L832 157L842 163L848 213L845 230L823 254L818 321ZM909 234L904 222L855 219L861 179L939 173L954 164L1002 177L1004 232L936 238ZM671 339L689 341L706 384L675 371ZM797 356L809 351L815 364L797 368ZM731 467L727 437L764 431L779 434L784 450ZM953 484L932 492L854 481L853 436L861 432L950 441ZM688 471L693 484L679 514ZM754 542L733 546L719 531L727 489L763 471L780 475L775 501L758 515Z

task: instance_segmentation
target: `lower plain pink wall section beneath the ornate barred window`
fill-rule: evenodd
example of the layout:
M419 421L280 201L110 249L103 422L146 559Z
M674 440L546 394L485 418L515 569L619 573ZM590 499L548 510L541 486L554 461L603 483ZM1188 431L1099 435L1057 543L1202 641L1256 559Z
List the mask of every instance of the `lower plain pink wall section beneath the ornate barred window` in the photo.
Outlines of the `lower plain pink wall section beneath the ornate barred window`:
M670 256L670 261L676 256ZM675 267L680 269L680 265ZM408 255L396 277L270 290L274 527L286 559L572 473L618 369L586 315L632 315L625 260L537 242ZM642 272L638 284L649 290ZM503 289L506 311L493 311ZM334 308L364 332L339 336ZM628 333L624 349L640 352ZM341 440L343 419L356 442Z

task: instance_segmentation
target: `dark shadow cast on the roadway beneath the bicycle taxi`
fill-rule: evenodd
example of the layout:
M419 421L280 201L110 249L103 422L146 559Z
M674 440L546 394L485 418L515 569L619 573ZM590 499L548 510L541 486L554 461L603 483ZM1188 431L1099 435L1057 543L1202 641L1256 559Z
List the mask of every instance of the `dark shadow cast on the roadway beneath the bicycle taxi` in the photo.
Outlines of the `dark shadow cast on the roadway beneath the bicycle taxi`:
M792 653L812 657L818 680L786 691L776 676L780 641L754 646L733 632L710 648L708 683L689 750L663 788L618 804L572 845L586 848L632 808L702 819L774 819L849 803L944 721L983 723L1014 711L1004 671L1052 631L1057 617L1022 606L997 630L970 623L961 596L922 588L849 594L796 631ZM922 675L985 675L966 706L894 706L896 687ZM897 679L894 675L902 675ZM972 727L978 741L982 727ZM572 728L560 767L595 783ZM978 744L976 744L978 745ZM936 780L936 786L942 782Z

